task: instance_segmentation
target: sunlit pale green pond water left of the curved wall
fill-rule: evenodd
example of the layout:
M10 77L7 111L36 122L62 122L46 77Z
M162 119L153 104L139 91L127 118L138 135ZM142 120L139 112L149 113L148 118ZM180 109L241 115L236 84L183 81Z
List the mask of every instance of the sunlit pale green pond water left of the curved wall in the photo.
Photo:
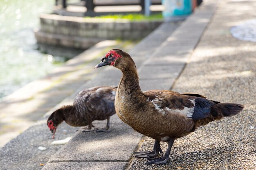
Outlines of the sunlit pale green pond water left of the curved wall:
M0 100L65 59L37 50L33 29L55 0L0 0ZM58 62L54 62L54 61Z

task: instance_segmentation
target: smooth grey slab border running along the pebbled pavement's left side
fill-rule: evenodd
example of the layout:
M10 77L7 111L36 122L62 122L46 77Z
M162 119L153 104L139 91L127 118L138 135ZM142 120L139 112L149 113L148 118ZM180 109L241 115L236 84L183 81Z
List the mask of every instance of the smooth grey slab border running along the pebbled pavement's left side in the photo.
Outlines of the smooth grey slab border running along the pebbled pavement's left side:
M203 4L159 48L147 56L145 62L138 67L141 89L171 88L175 78L189 61L189 57L210 22L215 9L215 3ZM133 57L133 55L131 56ZM137 57L133 58L136 63ZM150 74L148 74L149 70ZM107 68L104 73L111 73L108 80L103 78L106 75L102 73L86 83L84 87L118 83L121 76L118 71L115 68ZM52 157L43 170L75 167L80 169L92 167L94 169L125 169L142 135L133 131L126 124L118 122L118 120L115 121L117 123L112 127L114 133L76 133L71 141Z

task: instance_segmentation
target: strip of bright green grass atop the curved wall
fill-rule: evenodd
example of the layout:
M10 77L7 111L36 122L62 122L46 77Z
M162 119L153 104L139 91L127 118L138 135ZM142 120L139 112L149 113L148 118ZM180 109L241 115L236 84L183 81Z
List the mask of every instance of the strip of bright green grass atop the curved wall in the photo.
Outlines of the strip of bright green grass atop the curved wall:
M118 15L101 15L96 17L85 17L85 18L100 18L100 19L126 19L131 21L140 21L140 20L161 20L163 18L162 13L152 14L150 16L145 16L143 14L138 13L130 13L130 14L118 14Z

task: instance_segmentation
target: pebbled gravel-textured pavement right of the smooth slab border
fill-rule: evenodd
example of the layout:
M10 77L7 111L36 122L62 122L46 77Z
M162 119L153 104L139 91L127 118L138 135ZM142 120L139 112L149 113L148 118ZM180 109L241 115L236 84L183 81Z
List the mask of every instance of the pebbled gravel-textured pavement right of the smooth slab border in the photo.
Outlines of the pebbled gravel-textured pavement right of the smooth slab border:
M166 165L147 166L147 159L132 158L128 170L256 170L256 43L229 33L230 27L253 19L255 9L255 0L220 2L172 89L240 103L245 109L175 140ZM153 144L153 139L145 137L138 150L152 150ZM167 144L161 142L161 147L165 152Z

